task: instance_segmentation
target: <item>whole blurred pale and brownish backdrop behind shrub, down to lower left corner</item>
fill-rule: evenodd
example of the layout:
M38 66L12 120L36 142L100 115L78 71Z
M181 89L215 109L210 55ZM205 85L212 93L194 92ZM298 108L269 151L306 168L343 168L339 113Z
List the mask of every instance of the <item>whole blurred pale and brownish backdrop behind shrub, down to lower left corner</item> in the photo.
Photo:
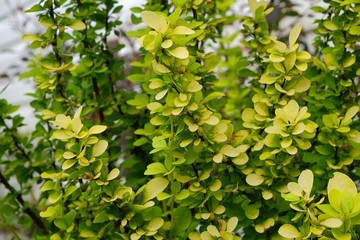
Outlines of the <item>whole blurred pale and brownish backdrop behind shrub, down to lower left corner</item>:
M255 1L255 0L250 0ZM8 103L13 105L20 105L20 109L15 114L20 114L25 118L26 126L22 127L21 133L26 134L31 132L35 127L36 118L29 103L32 97L27 96L27 93L34 91L36 85L31 79L19 80L20 74L26 71L28 59L32 58L34 52L29 49L29 43L21 40L24 34L38 34L44 31L44 28L38 23L36 13L24 13L36 1L29 0L0 0L0 99L6 99ZM118 0L119 5L123 5L122 11L119 13L119 18L123 24L119 27L120 31L125 34L129 30L134 30L134 25L131 23L131 11L133 6L140 6L145 0ZM316 25L313 23L316 18L321 18L321 15L315 15L311 10L313 6L324 5L321 0L268 0L275 9L272 14L268 16L268 21L271 24L272 35L282 37L287 36L291 28L301 23L303 26L302 36L304 46L311 52L311 42L314 38L313 29ZM247 0L234 0L234 4L228 11L228 14L236 14L245 16L250 14ZM295 15L295 12L298 15ZM241 22L238 21L232 26L226 28L225 33L232 35L235 31L241 29ZM136 28L142 27L137 25ZM241 39L236 39L234 44L240 45ZM126 48L118 53L118 57L129 59L138 50L139 46L135 39L121 38L113 36L109 39L111 45L125 44ZM209 50L211 51L211 50ZM46 51L42 54L46 54ZM16 187L16 181L11 181ZM4 187L0 184L0 199L5 193ZM3 228L2 221L6 219L1 218L0 210L0 240L10 240L12 238L11 232Z

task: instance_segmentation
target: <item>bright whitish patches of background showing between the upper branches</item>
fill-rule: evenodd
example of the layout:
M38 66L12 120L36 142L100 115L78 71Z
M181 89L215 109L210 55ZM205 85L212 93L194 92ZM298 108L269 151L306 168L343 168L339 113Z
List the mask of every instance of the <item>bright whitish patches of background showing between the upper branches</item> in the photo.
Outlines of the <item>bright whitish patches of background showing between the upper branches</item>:
M37 22L36 13L23 13L34 2L36 1L0 0L0 91L9 84L7 89L0 94L0 99L5 98L11 104L21 105L20 110L15 114L21 114L25 117L24 122L27 126L22 128L23 132L31 131L36 122L33 110L29 105L33 98L25 95L34 91L35 84L29 79L18 81L19 73L26 71L27 62L23 58L31 57L28 48L29 43L23 42L21 36L40 32L43 29ZM131 25L130 8L140 6L144 2L145 0L119 0L119 4L124 6L120 12L120 18L125 23L124 26ZM299 13L306 15L307 12L311 11L310 7L318 4L321 0L294 0L294 2L300 4ZM249 13L247 0L237 0L231 9L238 15ZM298 22L302 23L303 31L311 31L314 28L312 18L302 17L296 20L283 21L283 24L280 24L281 32L275 34L287 35L290 31L289 26ZM124 30L127 31L128 29ZM235 30L230 27L226 31L231 35ZM119 54L126 55L127 53L128 50L125 48Z

